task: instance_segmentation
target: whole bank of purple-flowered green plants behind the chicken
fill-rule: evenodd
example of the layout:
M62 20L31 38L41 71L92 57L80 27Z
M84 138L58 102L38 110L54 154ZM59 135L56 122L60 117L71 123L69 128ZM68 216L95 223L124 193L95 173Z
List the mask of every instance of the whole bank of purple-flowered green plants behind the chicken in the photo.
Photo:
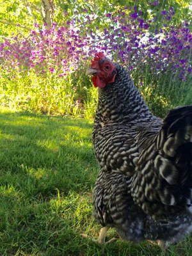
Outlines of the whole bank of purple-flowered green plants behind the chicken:
M174 9L161 14L170 20ZM28 38L18 35L0 44L1 104L74 115L95 108L84 67L97 51L129 69L157 114L184 102L192 68L188 22L150 31L156 17L146 22L141 11L125 7L118 14L107 13L108 26L93 32L88 18L86 29L77 29L78 20L71 20L66 26L54 23L49 31L44 27L39 33L31 31Z

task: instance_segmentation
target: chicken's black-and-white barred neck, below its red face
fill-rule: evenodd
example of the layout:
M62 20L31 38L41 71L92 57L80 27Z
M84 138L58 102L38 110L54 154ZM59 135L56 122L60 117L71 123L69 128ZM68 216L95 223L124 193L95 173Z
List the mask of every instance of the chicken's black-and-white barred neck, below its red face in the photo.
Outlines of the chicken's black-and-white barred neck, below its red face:
M127 70L120 66L117 68L115 83L99 89L95 125L138 123L157 119L148 109Z

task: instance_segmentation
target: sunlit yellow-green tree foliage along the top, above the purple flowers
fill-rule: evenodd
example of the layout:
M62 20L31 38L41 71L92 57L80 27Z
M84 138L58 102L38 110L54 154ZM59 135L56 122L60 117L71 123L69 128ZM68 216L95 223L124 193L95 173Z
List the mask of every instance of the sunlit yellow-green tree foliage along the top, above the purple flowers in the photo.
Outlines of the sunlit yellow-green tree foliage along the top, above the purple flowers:
M42 28L42 1L40 0L21 0L21 1L1 1L0 22L2 29L1 36L10 37L14 33L28 35L28 29L33 29L33 24L40 24ZM169 0L167 1L130 1L130 0L108 0L108 1L82 1L82 0L54 0L54 22L58 26L63 26L66 20L76 20L76 26L82 30L86 27L86 21L91 20L92 29L95 27L104 28L106 26L106 13L116 14L125 6L128 7L127 13L140 12L142 19L154 19L152 30L160 28L165 22L168 26L180 26L182 20L191 20L190 0ZM170 10L173 7L174 10ZM166 12L166 19L162 15ZM170 19L174 13L174 17ZM66 17L67 14L67 17ZM90 17L90 18L88 18ZM18 25L22 25L22 27ZM1 38L0 38L1 39Z

